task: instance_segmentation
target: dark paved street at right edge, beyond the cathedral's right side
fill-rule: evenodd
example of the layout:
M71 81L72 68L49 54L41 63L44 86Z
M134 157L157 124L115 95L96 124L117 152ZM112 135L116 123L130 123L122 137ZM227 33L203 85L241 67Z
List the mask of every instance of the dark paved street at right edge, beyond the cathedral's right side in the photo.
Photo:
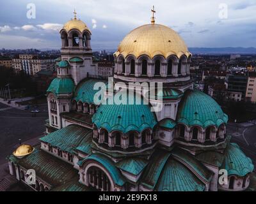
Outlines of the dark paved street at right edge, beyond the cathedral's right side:
M228 124L227 133L232 135L231 142L239 144L243 152L256 165L256 125L253 123L239 124L238 126Z

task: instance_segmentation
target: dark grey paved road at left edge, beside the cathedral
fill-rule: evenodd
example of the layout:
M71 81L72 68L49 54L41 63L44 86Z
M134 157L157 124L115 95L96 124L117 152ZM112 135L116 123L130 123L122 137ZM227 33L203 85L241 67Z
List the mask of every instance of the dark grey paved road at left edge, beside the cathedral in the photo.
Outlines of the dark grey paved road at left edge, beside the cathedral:
M31 110L19 110L0 103L0 164L6 163L6 156L12 154L21 142L38 138L45 131L48 118L47 104L38 105L40 110L33 117Z

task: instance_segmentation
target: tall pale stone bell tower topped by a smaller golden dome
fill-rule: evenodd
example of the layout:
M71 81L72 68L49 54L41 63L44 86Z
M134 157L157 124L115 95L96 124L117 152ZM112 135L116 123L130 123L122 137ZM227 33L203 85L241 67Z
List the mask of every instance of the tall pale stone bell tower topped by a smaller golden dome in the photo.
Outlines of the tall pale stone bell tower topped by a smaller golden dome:
M70 64L70 74L77 85L86 77L95 75L96 68L92 61L91 36L87 25L77 18L69 20L60 31L61 36L61 61Z

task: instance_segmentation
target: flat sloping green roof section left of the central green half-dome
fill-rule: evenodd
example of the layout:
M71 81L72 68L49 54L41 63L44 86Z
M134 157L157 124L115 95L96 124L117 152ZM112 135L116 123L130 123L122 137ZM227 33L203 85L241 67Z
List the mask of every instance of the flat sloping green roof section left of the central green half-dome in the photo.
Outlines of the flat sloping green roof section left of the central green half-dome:
M70 125L66 128L54 131L53 133L40 138L40 140L42 142L50 143L53 147L58 147L63 151L72 153L72 150L79 146L89 133L92 133L92 130L81 126Z

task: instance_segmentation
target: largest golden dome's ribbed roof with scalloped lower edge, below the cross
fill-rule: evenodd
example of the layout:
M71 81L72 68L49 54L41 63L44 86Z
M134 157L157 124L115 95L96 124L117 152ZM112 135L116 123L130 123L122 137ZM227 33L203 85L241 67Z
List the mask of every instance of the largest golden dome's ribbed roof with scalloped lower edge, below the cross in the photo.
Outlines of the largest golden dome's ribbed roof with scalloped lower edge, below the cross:
M160 24L142 25L131 31L121 41L115 55L148 55L151 59L156 55L163 55L167 58L170 55L191 55L188 47L170 27Z

